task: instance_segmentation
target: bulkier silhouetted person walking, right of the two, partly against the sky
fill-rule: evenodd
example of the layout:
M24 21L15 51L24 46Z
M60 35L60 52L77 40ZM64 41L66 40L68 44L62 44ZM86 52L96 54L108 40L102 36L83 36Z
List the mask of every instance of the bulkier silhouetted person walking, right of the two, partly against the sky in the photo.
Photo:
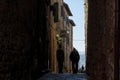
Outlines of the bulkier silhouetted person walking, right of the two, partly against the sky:
M79 62L80 56L78 51L73 48L72 52L70 53L70 60L72 61L72 70L73 73L78 72L78 62Z

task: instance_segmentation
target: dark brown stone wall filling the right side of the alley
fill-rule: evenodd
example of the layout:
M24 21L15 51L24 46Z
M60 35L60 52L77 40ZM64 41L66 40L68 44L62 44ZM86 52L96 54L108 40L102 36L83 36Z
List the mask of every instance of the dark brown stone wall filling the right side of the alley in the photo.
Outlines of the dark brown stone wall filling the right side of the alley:
M119 80L118 5L118 0L88 0L86 70L89 80Z

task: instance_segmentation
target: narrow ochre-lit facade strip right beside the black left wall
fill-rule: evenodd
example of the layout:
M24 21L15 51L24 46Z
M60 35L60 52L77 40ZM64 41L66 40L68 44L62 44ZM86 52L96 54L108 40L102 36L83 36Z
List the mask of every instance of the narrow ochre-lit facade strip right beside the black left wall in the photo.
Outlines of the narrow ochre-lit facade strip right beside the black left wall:
M50 27L50 55L49 55L49 69L51 72L57 71L57 61L56 61L56 50L57 50L57 40L56 40L56 25L58 21L55 20L54 14L58 15L58 12L54 10L55 3L58 3L56 0L50 0L50 11L49 11L49 27ZM56 7L56 9L58 6ZM58 17L58 16L57 16ZM56 18L57 20L58 18Z

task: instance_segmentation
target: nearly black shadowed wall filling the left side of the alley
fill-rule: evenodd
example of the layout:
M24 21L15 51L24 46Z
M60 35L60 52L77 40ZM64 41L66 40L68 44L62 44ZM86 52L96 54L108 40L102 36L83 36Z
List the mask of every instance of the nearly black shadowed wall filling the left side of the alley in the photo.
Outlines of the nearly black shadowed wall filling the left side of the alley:
M37 68L46 68L46 14L41 4L37 0L0 0L0 80L32 80ZM38 7L44 9L41 15Z

